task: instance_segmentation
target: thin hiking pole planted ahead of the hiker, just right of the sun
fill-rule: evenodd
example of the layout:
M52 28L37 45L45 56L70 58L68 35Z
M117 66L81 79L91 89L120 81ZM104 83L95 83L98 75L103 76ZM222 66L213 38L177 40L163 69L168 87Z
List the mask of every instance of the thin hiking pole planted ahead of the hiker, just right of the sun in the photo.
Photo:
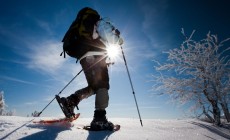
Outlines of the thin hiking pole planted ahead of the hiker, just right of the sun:
M121 47L121 52L122 52L123 59L124 59L124 62L125 62L126 70L127 70L127 73L128 73L129 82L130 82L130 85L131 85L131 88L132 88L133 97L134 97L134 100L135 100L135 103L136 103L136 107L137 107L137 112L138 112L138 115L139 115L140 123L141 123L141 126L143 127L142 120L141 120L141 114L140 114L140 111L139 111L139 108L138 108L137 99L136 99L136 95L135 95L134 88L133 88L133 83L132 83L131 76L130 76L129 69L128 69L128 65L127 65L127 62L126 62L126 59L125 59L125 54L124 54L124 51L123 51L123 48L122 48L121 45L120 45L120 47Z

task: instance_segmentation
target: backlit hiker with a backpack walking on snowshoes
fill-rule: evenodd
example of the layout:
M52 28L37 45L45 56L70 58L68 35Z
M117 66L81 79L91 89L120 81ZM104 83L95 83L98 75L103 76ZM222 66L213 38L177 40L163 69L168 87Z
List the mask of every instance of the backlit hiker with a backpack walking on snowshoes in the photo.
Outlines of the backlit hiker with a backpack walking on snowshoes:
M77 41L74 45L77 46L78 49L80 49L78 50L78 52L83 53L80 55L80 57L75 56L75 58L78 58L80 61L88 86L77 90L75 93L71 94L68 97L62 97L61 102L63 106L68 108L71 113L74 113L74 107L78 106L81 100L88 98L89 96L95 95L95 111L93 120L90 123L90 127L93 130L104 130L112 129L113 127L113 123L109 122L106 117L106 108L109 105L108 90L110 88L110 84L108 64L106 63L107 57L103 54L106 50L105 41L108 40L105 40L105 38L103 40L103 37L99 37L100 33L98 33L95 29L98 26L100 20L102 20L100 19L99 14L98 16L96 16L97 14L98 13L92 8L83 8L79 11L76 20L84 21L77 21L77 26L74 25L76 24L76 22L73 22L70 26L70 29L76 27L78 28L78 30L81 30L81 32L78 32ZM102 23L103 22L101 22L101 24ZM84 27L82 28L81 26ZM101 26L101 28L104 28L104 26ZM114 30L115 29L111 29L111 32ZM101 34L104 33L105 32L101 32ZM118 34L120 33L116 29L116 31L114 31L114 35ZM66 36L67 35L65 35L65 37ZM63 42L65 41L65 37L63 39ZM121 41L119 40L119 38L117 38L117 41L119 41L119 44L123 43L123 40ZM66 52L68 54L71 53L70 51Z

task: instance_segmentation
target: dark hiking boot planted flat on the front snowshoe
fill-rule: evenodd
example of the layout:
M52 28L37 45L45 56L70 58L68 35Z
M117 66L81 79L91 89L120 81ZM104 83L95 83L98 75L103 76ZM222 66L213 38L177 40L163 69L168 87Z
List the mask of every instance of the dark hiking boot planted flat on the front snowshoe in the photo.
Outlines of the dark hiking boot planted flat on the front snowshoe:
M90 123L90 129L93 131L113 130L113 123L106 118L105 110L95 110L93 121Z

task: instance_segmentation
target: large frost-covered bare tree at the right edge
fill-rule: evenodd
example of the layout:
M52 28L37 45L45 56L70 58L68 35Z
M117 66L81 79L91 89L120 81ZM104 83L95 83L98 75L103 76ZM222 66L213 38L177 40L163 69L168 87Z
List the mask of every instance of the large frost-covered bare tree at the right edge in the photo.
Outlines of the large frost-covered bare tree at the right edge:
M157 81L154 88L181 103L193 103L208 118L211 113L212 120L220 125L221 109L230 121L230 47L224 46L230 38L219 42L216 35L208 33L205 39L195 41L194 32L186 37L182 30L186 39L180 48L165 52L166 63L156 61L155 68L161 75L154 76Z

